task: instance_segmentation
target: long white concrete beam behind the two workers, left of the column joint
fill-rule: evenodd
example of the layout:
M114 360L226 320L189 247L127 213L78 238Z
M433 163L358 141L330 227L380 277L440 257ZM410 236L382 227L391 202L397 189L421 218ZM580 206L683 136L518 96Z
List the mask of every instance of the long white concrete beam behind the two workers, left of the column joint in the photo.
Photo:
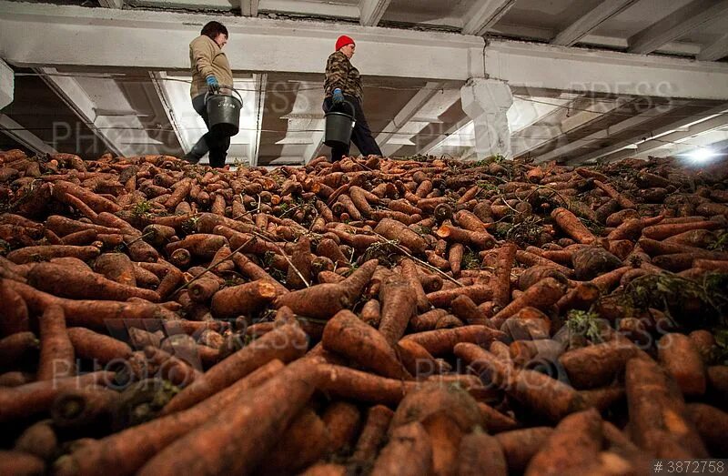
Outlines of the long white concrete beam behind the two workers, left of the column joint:
M0 11L0 55L18 66L187 70L186 46L209 20L209 15L199 14L8 1L0 1ZM320 74L338 29L330 22L245 16L223 21L230 32L226 53L235 72ZM163 42L160 31L165 32ZM480 37L358 25L346 25L346 31L357 40L354 62L367 76L465 81L484 74Z

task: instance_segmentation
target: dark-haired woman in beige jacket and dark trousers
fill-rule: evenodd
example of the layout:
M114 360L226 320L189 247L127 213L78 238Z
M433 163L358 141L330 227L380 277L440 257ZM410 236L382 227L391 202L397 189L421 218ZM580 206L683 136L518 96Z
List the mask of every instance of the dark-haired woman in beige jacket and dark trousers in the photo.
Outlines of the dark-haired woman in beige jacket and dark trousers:
M218 93L221 87L233 86L233 73L227 56L222 52L227 44L227 28L218 22L203 26L200 35L189 44L189 62L192 68L192 107L207 125L207 133L192 147L185 159L197 164L209 151L210 166L223 167L230 147L230 137L209 131L205 95Z

